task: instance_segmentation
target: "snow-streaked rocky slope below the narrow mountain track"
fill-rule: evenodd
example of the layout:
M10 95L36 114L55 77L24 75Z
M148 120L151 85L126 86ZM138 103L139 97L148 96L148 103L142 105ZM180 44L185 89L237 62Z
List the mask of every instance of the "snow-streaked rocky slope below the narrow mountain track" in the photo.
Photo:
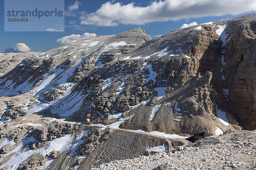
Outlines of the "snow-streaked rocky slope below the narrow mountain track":
M184 142L31 114L0 127L0 169L89 169L113 160L151 155L148 147L172 148Z

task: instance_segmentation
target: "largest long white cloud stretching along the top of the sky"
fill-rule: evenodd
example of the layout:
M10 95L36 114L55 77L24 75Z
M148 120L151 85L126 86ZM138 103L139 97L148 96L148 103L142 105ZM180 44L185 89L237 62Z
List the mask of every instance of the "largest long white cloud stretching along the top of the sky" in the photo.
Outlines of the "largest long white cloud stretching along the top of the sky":
M154 1L146 7L113 2L104 3L97 11L80 17L80 23L95 26L143 25L154 21L236 15L256 9L256 0L164 0Z

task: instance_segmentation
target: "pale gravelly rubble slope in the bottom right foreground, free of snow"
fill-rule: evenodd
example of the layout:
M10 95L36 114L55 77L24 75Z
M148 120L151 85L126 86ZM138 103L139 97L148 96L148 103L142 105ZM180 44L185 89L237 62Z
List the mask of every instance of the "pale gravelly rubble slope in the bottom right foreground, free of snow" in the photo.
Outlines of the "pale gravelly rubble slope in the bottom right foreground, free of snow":
M169 152L111 161L91 170L254 170L255 133L229 131Z

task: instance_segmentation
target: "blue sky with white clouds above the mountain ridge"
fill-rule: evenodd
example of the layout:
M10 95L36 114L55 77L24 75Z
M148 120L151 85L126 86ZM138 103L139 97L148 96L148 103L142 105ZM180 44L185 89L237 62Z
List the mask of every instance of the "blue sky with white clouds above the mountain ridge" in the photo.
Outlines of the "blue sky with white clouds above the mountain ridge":
M65 0L67 15L64 31L5 32L4 0L0 0L0 51L15 47L17 43L25 43L31 51L43 52L57 48L73 37L118 34L137 27L154 37L178 29L184 23L201 24L252 14L255 12L253 9L256 9L254 1L198 0L192 3L191 0ZM62 38L72 34L78 36Z

